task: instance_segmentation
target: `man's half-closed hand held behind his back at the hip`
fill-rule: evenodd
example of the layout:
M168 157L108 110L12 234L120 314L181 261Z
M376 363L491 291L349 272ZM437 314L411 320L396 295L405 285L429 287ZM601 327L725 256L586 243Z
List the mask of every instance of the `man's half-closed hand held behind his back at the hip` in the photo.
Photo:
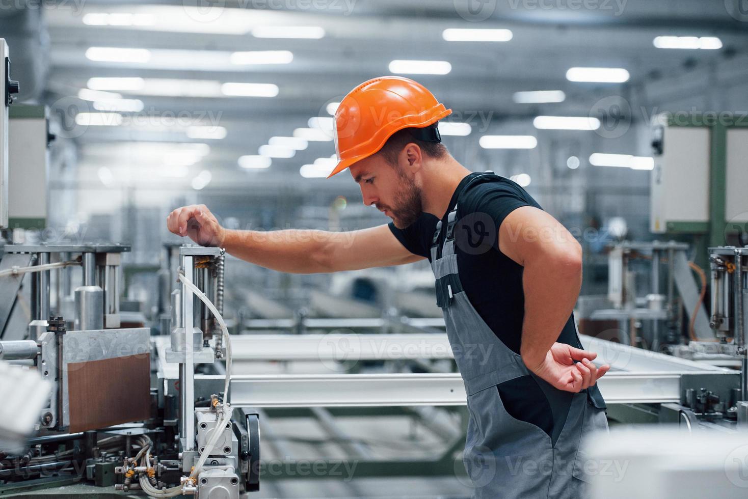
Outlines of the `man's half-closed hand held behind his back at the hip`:
M527 362L525 364L530 371L555 388L577 393L594 385L610 370L610 365L598 368L592 364L592 360L597 356L597 353L580 350L565 343L554 343L541 362L536 365L527 365Z

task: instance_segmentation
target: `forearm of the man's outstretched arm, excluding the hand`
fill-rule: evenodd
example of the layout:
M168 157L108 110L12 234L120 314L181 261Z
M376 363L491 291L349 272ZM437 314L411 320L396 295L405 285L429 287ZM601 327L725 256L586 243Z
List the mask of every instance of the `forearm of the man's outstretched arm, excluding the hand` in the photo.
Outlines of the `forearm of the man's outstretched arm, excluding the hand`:
M281 272L332 272L329 245L344 233L289 229L272 232L226 230L222 246L231 255Z

